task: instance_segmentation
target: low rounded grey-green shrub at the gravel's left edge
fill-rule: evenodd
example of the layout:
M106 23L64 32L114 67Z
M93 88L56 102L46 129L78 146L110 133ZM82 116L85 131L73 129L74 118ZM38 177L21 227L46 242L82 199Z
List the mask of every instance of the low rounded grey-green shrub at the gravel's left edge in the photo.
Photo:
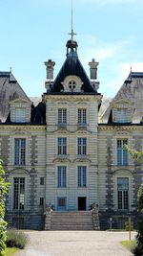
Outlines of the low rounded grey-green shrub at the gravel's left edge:
M16 229L9 229L7 231L7 246L23 249L27 243L28 236L24 232Z

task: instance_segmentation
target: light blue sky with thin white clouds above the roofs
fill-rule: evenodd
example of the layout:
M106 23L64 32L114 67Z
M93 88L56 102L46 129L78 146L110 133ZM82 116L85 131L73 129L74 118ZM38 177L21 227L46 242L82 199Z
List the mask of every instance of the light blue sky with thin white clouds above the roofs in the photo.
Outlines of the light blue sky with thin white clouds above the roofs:
M73 3L72 3L73 2ZM0 71L11 71L28 96L45 89L44 61L66 58L73 5L74 39L87 74L98 65L98 92L113 97L133 72L143 72L143 0L0 0Z

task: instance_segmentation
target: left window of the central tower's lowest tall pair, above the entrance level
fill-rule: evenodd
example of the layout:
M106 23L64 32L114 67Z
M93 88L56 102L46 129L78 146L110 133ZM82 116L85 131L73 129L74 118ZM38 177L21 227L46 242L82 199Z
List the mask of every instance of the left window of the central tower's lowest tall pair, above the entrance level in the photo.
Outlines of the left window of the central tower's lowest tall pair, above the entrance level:
M66 188L67 180L67 167L58 166L57 167L57 186L58 188Z

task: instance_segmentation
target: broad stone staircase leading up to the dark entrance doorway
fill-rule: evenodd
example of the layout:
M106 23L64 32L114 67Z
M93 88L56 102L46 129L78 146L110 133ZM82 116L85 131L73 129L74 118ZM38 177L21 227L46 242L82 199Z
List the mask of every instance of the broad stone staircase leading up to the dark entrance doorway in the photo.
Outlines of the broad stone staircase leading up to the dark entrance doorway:
M92 211L53 211L51 230L93 230Z

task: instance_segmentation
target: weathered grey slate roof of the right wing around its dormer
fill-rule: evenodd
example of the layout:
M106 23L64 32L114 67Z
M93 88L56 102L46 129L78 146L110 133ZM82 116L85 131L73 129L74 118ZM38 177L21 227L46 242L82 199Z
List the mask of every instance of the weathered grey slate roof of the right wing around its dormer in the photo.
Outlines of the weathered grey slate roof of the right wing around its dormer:
M126 81L112 99L111 104L102 114L102 123L112 122L112 105L118 101L127 101L133 105L132 124L140 124L143 120L143 72L131 72Z

